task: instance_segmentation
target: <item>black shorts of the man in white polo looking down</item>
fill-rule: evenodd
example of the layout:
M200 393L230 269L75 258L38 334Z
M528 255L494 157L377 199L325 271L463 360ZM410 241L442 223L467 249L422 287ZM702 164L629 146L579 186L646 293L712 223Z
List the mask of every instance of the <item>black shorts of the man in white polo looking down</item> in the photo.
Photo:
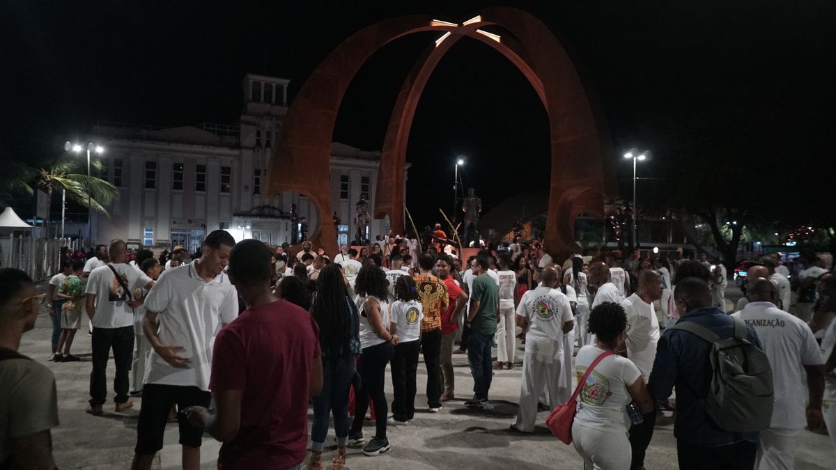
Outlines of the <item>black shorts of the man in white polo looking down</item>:
M212 394L196 386L166 386L145 384L142 388L142 408L140 421L136 427L136 447L134 452L140 455L152 454L162 448L163 433L166 432L168 412L171 406L178 410L186 406L209 406ZM187 447L201 447L203 429L193 427L186 416L177 413L180 427L180 443Z

